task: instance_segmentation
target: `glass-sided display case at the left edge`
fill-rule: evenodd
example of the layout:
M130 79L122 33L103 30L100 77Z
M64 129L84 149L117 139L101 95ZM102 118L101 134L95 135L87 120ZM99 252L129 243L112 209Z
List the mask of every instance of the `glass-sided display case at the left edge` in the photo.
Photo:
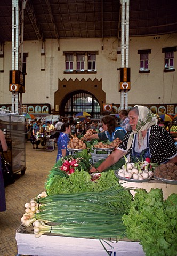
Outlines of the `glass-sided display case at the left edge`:
M0 129L3 131L8 150L4 152L13 173L25 174L25 117L20 115L0 115Z

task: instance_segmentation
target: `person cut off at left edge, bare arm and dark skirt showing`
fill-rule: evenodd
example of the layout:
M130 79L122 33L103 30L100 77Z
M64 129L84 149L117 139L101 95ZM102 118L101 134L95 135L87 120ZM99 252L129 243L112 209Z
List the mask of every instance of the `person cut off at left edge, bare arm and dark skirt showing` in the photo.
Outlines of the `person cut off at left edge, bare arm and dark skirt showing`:
M8 146L5 140L5 135L0 130L0 142L3 151L7 151ZM3 172L2 172L2 164L1 164L1 157L0 157L0 212L6 210L6 203L5 203L5 188L4 188L4 179L3 179Z

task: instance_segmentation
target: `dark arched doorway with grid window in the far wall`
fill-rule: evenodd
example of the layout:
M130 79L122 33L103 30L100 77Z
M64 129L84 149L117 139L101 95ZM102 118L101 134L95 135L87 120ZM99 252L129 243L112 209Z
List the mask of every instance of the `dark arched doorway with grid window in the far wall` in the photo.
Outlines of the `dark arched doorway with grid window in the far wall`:
M84 90L66 95L61 102L61 116L73 116L81 111L91 114L91 118L100 118L101 108L94 95Z

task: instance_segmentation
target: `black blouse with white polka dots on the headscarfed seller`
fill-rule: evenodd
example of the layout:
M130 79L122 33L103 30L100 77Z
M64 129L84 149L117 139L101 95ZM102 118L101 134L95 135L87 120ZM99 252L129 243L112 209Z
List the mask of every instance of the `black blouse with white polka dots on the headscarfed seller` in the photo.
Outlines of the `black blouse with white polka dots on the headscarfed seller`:
M120 149L126 150L130 133L131 132L126 133L121 145L119 146ZM154 163L163 163L167 159L177 155L177 148L172 140L171 134L158 125L151 126L149 148L152 158L151 160ZM130 153L131 157L132 146L128 153Z

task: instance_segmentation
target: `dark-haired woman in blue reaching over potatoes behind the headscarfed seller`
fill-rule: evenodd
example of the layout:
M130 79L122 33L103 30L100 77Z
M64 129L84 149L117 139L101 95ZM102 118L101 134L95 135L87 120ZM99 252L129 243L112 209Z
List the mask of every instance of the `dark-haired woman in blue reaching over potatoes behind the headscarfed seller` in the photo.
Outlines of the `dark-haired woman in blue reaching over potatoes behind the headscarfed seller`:
M124 138L126 131L122 127L116 127L116 119L113 116L104 116L101 122L104 131L86 137L85 140L99 139L113 141L116 138L120 140Z

